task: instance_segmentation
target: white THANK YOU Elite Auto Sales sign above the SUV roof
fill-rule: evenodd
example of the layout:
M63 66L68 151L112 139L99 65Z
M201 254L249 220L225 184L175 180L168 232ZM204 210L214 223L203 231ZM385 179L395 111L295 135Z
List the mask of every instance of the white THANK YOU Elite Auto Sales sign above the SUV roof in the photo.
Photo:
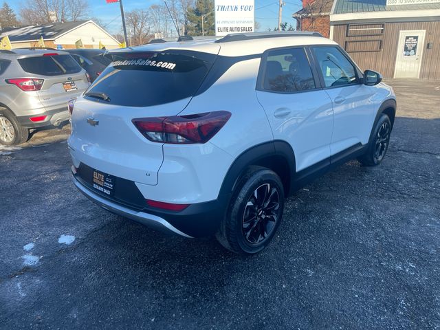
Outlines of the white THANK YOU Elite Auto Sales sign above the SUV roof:
M254 11L254 0L215 0L215 35L254 32Z

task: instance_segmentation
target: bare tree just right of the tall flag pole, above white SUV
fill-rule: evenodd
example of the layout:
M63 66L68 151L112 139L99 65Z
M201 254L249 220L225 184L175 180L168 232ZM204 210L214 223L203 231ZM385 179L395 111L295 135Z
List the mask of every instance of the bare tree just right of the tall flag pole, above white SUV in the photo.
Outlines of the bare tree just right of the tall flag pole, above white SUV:
M132 10L125 15L126 27L130 32L131 45L144 45L151 39L149 17L146 10Z

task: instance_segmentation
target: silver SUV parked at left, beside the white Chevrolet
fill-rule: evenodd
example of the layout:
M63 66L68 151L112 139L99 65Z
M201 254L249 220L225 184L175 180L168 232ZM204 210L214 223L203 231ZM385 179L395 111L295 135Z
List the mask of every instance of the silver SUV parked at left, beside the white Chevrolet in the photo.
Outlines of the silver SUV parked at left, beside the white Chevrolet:
M67 52L0 50L0 144L26 142L29 130L69 120L67 102L90 77Z

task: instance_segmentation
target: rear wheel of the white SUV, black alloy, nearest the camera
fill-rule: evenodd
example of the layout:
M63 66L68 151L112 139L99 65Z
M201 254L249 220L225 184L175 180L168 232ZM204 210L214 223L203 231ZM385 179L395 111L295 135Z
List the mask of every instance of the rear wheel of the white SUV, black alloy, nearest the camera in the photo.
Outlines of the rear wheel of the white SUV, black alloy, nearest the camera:
M270 195L267 195L270 194ZM253 167L239 179L217 240L236 254L255 254L272 241L284 209L281 179L272 170Z

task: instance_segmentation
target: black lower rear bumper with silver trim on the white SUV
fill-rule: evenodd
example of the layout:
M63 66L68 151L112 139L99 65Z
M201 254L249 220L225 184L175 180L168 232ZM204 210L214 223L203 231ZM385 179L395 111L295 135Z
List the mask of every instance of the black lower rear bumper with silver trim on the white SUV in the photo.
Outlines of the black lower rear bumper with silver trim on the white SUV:
M102 208L153 229L179 234L187 238L215 234L225 216L225 205L228 201L228 198L222 198L205 203L195 203L180 212L158 210L148 208L148 206L144 210L135 210L91 190L75 174L73 181L83 195Z

